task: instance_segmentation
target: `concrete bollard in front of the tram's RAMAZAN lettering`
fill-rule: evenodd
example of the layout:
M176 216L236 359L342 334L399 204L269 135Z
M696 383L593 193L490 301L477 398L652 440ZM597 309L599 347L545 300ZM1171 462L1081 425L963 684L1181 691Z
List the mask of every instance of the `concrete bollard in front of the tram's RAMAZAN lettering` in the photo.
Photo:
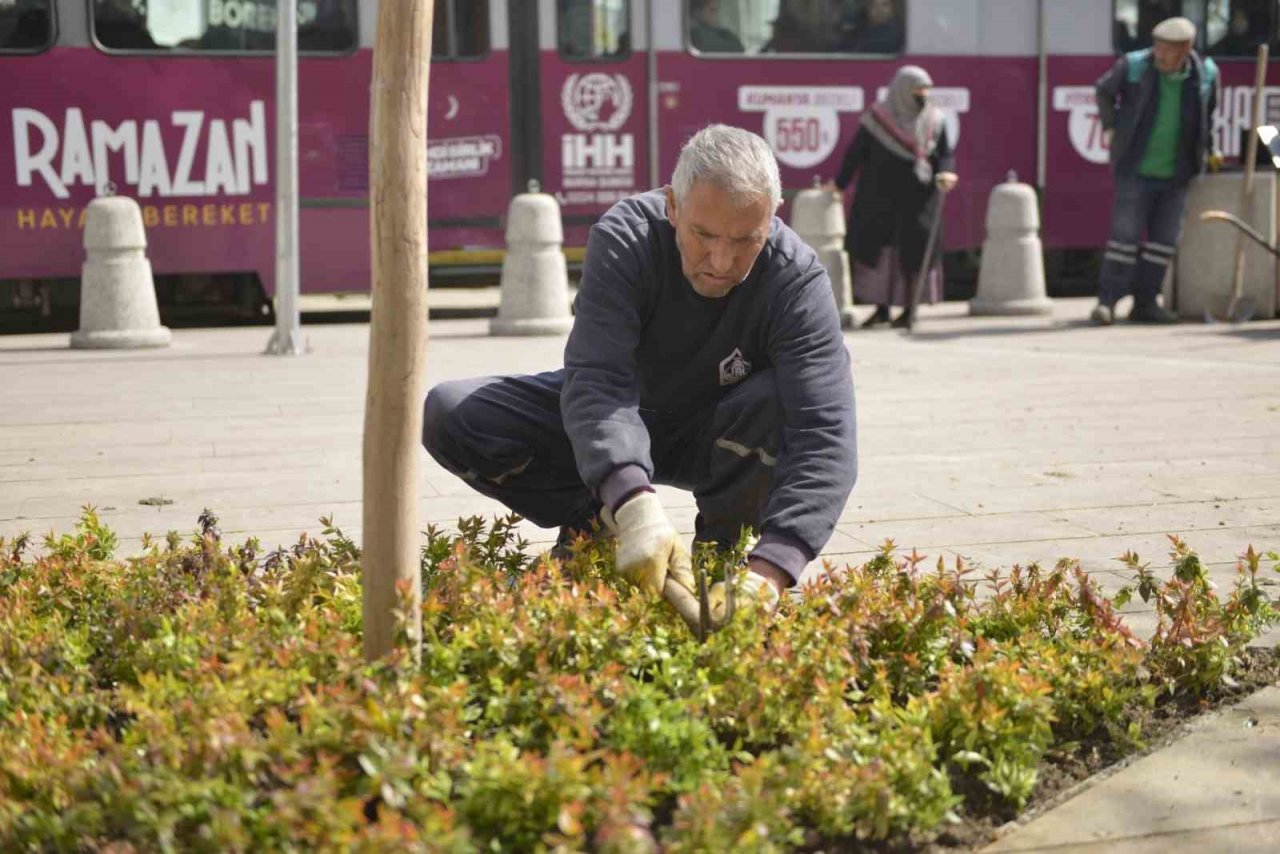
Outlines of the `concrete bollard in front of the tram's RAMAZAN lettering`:
M132 198L102 196L84 214L81 324L72 347L133 350L168 347L160 325L142 210Z

